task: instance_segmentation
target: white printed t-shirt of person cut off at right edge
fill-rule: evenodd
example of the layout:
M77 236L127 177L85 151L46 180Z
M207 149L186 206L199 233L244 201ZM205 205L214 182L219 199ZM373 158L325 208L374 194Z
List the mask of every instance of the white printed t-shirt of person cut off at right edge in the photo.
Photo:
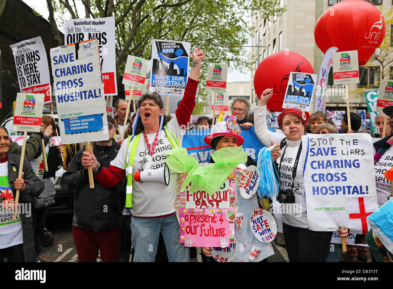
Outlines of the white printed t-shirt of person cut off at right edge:
M384 173L391 169L392 166L393 146L387 149L374 166L376 197L378 199L379 206L385 204L387 202L387 197L390 195L391 181L385 178Z

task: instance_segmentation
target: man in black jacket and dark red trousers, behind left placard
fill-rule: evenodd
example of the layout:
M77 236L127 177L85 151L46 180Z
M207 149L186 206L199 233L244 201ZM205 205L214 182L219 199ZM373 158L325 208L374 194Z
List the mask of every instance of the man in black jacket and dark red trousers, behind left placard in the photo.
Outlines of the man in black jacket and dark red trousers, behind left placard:
M124 101L125 102L125 101ZM127 103L127 102L125 102ZM93 142L94 155L99 157L106 168L119 152L114 136L116 126L111 116L107 116L109 139ZM95 262L98 250L104 262L117 262L121 249L120 217L125 205L127 179L124 177L113 188L105 188L97 181L90 189L86 164L82 160L84 150L72 158L61 184L75 192L75 207L72 233L79 262Z

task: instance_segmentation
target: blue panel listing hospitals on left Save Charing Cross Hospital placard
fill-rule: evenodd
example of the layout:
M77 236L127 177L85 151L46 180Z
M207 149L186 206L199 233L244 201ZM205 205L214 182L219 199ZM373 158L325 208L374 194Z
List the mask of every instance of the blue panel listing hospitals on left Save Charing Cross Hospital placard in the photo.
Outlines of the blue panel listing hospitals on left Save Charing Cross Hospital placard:
M64 131L66 134L101 131L102 128L103 123L101 114L64 118Z

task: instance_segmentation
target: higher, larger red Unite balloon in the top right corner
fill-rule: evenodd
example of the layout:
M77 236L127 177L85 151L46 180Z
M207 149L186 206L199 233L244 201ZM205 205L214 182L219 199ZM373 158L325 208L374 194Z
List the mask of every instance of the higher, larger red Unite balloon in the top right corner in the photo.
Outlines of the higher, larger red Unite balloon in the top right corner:
M315 42L323 53L332 46L338 51L358 50L359 65L367 63L384 36L384 17L363 0L334 4L323 12L314 29Z

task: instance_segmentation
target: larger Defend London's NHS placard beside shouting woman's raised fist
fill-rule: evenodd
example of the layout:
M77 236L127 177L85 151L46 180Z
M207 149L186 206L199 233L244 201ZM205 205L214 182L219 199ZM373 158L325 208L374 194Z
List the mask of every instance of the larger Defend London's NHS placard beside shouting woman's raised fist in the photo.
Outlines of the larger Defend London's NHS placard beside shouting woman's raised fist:
M190 43L153 39L150 90L161 95L184 96ZM176 91L175 91L176 90Z

